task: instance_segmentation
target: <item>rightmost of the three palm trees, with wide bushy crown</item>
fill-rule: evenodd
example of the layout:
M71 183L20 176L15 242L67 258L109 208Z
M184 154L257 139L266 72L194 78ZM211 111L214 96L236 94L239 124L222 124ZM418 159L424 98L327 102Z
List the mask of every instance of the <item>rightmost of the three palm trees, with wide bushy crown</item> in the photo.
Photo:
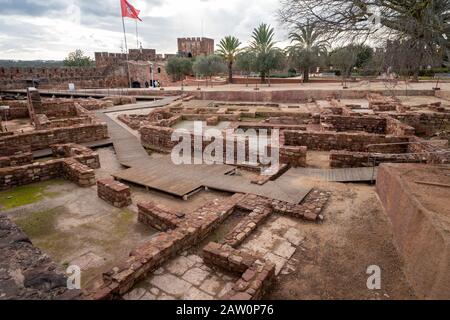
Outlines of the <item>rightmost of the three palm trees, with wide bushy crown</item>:
M309 72L318 63L319 57L326 53L327 42L322 39L324 32L313 24L298 24L295 31L289 34L293 46L288 48L291 58L303 70L303 82L309 81Z

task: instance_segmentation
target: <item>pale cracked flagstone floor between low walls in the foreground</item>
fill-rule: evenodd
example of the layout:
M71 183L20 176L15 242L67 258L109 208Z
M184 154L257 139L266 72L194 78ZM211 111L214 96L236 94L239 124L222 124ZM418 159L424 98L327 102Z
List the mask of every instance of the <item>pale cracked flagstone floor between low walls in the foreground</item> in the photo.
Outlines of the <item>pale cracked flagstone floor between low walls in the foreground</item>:
M292 258L301 250L304 235L298 219L272 215L239 247L276 265L283 276L295 270ZM238 276L206 266L199 255L183 252L125 294L125 300L217 300L228 293Z

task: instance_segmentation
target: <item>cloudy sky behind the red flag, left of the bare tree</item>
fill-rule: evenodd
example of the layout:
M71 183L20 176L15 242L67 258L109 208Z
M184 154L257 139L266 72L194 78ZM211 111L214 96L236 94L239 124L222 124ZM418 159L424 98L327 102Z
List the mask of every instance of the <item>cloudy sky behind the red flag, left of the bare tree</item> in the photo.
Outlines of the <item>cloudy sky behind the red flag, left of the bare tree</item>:
M129 0L141 10L140 41L158 53L175 53L176 38L235 35L245 44L261 22L276 28L278 0ZM126 19L128 47L136 48L134 20ZM203 25L203 27L202 27ZM60 60L81 48L120 52L120 0L0 0L0 59Z

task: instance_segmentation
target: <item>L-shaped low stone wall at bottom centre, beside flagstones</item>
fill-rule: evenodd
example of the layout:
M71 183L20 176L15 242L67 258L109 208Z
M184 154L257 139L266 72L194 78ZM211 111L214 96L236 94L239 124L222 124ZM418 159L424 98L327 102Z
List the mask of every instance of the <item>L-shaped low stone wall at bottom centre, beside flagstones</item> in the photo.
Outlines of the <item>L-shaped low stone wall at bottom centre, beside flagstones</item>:
M260 300L275 279L275 264L256 255L214 242L203 248L203 260L211 267L242 274L224 300Z

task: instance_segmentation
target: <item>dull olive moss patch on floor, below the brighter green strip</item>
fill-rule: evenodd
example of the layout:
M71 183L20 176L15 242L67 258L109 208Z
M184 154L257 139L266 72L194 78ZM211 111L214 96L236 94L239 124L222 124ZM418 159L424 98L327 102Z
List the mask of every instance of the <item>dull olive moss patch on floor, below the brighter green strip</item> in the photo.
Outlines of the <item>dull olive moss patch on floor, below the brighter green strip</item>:
M62 212L61 207L33 212L15 219L15 223L32 239L44 237L55 232L56 218Z

